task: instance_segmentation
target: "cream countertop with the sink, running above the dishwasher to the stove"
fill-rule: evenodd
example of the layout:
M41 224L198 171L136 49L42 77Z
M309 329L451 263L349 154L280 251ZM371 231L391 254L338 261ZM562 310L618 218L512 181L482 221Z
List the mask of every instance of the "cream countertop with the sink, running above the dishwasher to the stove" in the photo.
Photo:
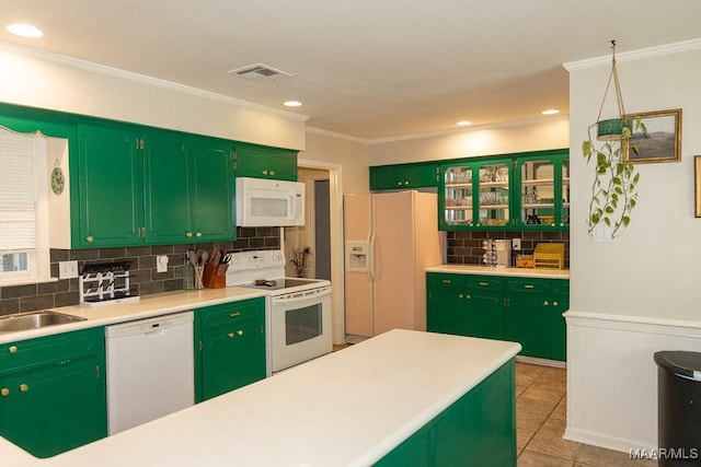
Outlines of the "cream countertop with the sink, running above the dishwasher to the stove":
M254 299L256 296L265 296L265 291L244 289L240 287L226 287L221 289L176 291L145 295L141 296L138 302L131 303L101 304L100 306L61 306L59 308L50 310L58 313L80 316L87 319L66 325L47 326L42 329L2 332L0 334L0 343L16 342L35 337L50 336L54 334L68 332L90 327L150 318L169 313L202 308L203 306Z

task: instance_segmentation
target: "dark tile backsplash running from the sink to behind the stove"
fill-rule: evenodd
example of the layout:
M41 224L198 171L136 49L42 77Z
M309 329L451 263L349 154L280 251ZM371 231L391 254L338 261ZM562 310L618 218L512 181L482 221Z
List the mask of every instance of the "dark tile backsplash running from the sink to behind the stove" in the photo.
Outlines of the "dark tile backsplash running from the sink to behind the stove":
M78 270L87 264L129 261L130 290L139 295L171 292L183 289L185 252L193 248L220 248L227 252L280 248L277 227L238 227L235 242L133 246L97 249L51 249L51 277L58 277L60 261L78 260ZM166 255L166 272L156 271L156 257ZM53 282L0 288L0 315L35 310L77 305L80 302L78 279L61 279Z

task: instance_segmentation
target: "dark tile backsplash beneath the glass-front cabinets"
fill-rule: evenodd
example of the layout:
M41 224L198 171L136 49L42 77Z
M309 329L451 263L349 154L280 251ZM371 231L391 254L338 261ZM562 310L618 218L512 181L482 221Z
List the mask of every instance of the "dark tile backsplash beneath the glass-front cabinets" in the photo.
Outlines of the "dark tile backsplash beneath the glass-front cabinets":
M482 241L485 238L506 240L521 238L521 252L525 255L532 255L538 243L564 243L565 244L565 268L570 268L570 232L448 232L448 264L456 265L481 265ZM515 255L512 255L513 257Z

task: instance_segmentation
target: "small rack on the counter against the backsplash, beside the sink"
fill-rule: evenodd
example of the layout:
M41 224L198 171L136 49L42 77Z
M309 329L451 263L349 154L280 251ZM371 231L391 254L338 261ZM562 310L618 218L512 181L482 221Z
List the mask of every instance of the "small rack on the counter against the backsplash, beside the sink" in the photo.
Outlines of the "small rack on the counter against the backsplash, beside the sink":
M78 278L80 303L100 305L136 302L139 296L129 291L129 262L102 262L83 266Z

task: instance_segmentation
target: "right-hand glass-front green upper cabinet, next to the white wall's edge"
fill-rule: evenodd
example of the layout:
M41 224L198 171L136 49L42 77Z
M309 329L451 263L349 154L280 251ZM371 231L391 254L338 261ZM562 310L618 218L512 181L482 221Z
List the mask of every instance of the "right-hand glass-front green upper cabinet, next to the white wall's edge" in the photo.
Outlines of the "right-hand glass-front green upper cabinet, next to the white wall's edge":
M570 160L566 154L517 160L519 227L570 226Z

